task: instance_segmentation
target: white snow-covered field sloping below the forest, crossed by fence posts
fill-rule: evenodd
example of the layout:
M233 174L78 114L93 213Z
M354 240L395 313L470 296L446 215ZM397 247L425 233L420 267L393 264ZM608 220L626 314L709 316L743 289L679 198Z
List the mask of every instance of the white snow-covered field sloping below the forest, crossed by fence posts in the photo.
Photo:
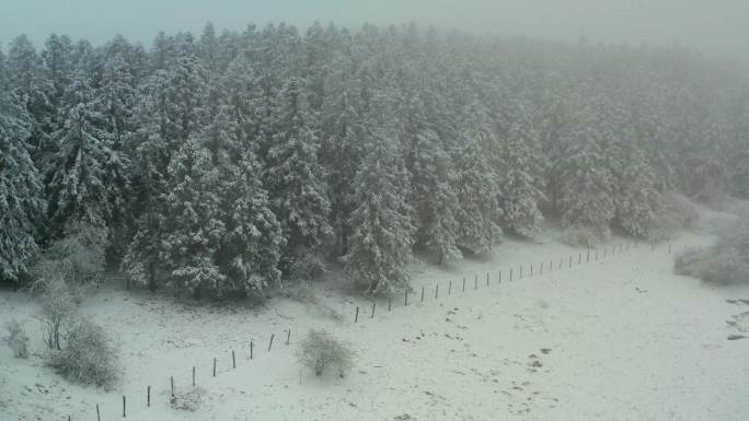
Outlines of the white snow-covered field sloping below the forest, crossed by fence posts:
M711 241L683 234L672 252ZM584 249L508 242L445 268L415 264L408 307L403 297L392 312L379 302L373 319L371 304L336 292L335 281L314 297L257 309L102 289L84 312L117 338L122 385L110 393L70 385L41 355L15 360L3 347L0 420L95 420L96 404L102 420L122 419L123 395L131 420L749 420L749 339L728 339L749 330L749 288L673 276L668 245L610 250L588 264ZM32 352L42 352L36 312L27 299L0 293L0 319L24 321ZM318 378L297 363L311 327L357 350L345 378ZM205 400L175 410L170 376L178 394L188 390L193 366Z

